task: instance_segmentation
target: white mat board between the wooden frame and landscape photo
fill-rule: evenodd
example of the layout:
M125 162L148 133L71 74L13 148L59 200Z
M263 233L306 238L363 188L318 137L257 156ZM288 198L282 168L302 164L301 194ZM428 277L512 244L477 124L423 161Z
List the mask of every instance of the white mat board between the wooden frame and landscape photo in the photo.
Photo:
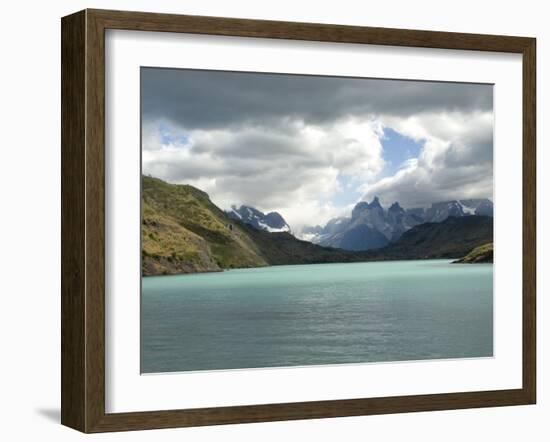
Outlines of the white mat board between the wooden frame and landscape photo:
M521 388L521 56L109 31L106 60L107 412ZM140 376L141 65L494 83L495 357Z

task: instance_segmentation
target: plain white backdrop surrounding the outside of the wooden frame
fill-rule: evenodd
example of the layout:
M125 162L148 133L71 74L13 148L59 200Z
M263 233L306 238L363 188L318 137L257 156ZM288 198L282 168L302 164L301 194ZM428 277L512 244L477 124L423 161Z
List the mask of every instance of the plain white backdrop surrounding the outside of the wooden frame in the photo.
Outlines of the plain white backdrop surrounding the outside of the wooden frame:
M2 11L0 69L0 192L3 250L0 254L2 308L0 339L0 435L6 440L78 440L85 436L61 427L60 390L60 30L59 17L85 7L317 21L366 26L500 33L538 38L539 145L539 403L529 407L354 417L316 421L232 425L93 436L100 440L273 440L335 438L449 441L546 440L550 413L548 372L550 333L544 323L550 279L550 219L543 191L550 167L543 146L549 131L550 29L544 2L314 1L230 2L188 0L20 1ZM547 198L546 198L547 200ZM510 209L519 209L509 201ZM6 244L7 242L7 244ZM546 249L543 252L543 249Z

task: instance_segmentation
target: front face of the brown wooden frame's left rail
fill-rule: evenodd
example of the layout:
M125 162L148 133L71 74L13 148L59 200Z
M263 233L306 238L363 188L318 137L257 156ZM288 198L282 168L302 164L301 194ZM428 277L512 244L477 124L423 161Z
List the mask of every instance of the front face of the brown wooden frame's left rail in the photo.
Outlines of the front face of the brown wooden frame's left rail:
M105 415L105 38L86 11L86 431Z

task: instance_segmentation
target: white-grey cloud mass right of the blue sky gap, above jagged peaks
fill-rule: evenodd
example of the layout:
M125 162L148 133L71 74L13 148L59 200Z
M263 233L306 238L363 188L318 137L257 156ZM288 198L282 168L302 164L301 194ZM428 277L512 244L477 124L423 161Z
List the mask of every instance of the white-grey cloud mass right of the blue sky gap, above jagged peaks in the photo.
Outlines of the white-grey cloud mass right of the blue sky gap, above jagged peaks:
M395 175L363 185L365 199L378 195L385 204L419 207L448 199L492 198L492 112L385 116L382 121L424 146Z

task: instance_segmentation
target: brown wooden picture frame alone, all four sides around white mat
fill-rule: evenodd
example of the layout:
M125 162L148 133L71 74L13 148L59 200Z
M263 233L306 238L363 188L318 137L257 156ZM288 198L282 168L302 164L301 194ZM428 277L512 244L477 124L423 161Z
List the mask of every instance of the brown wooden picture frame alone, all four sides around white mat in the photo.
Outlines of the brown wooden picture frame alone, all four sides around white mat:
M84 10L62 19L61 422L83 432L534 404L536 40L233 18ZM185 32L519 53L523 56L523 386L136 413L105 413L105 30Z

